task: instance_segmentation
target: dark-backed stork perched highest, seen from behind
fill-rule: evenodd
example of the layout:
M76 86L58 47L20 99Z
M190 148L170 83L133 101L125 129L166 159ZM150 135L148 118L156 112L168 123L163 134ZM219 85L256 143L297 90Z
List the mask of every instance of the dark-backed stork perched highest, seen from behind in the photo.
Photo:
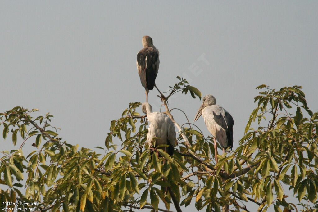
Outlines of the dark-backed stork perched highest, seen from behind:
M137 69L142 86L146 90L146 102L148 102L149 90L156 86L156 77L159 68L159 51L152 44L152 38L142 38L143 49L137 54ZM158 89L158 88L157 88ZM159 91L159 90L158 90Z

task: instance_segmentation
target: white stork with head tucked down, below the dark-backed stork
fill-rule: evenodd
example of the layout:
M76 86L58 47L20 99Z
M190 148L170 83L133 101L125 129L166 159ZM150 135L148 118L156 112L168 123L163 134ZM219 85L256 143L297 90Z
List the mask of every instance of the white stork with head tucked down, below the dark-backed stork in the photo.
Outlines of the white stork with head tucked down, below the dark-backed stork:
M173 155L173 149L176 146L176 131L175 126L171 119L164 113L152 112L152 107L147 102L143 103L142 112L147 114L147 119L150 122L147 133L147 140L149 143L149 147L152 147L152 141L155 140L155 147L161 144L167 144L169 147L159 147L163 149L170 156ZM153 150L151 151L152 154ZM157 156L159 154L157 152Z

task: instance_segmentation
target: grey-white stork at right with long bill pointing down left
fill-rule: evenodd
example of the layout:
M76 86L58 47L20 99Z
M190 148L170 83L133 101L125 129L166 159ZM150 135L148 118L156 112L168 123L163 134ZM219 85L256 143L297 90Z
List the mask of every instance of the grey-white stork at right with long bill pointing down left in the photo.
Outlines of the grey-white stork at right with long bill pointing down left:
M203 97L203 103L200 106L194 121L203 116L204 122L214 139L215 160L217 159L217 143L224 149L233 147L233 126L234 120L229 112L223 107L216 105L216 99L212 95ZM216 139L216 140L215 140Z

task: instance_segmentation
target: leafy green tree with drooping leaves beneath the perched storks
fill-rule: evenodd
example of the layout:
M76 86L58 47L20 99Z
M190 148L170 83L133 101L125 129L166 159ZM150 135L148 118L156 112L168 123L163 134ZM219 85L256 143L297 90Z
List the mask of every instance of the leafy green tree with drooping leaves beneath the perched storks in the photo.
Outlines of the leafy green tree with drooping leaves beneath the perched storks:
M201 99L201 92L177 78L163 101L180 132L171 157L160 149L162 158L151 156L138 102L111 121L106 147L99 147L104 155L63 141L49 113L32 118L35 110L22 107L0 113L3 138L10 134L14 145L22 138L18 150L1 152L0 183L7 187L0 190L1 202L37 202L37 211L169 211L170 204L177 211L190 204L206 211L255 211L251 204L258 211L317 211L318 112L309 110L300 86L257 87L257 107L239 147L218 155L216 163L211 137L190 123L181 127L171 115L167 100L176 92ZM38 150L25 157L30 141ZM25 195L19 182L24 178ZM166 209L158 208L159 201Z

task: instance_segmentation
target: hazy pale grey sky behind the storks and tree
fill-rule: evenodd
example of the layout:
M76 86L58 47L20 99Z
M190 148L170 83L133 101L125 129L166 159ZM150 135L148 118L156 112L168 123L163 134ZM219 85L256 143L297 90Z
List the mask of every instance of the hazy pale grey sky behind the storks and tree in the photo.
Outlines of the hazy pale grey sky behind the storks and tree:
M181 76L214 95L234 118L235 149L260 84L301 85L318 110L317 10L318 1L0 1L0 111L50 112L69 143L104 147L110 121L145 101L136 55L149 35L160 51L156 85L167 91ZM169 100L190 121L200 105L190 95ZM196 124L210 135L202 118Z

